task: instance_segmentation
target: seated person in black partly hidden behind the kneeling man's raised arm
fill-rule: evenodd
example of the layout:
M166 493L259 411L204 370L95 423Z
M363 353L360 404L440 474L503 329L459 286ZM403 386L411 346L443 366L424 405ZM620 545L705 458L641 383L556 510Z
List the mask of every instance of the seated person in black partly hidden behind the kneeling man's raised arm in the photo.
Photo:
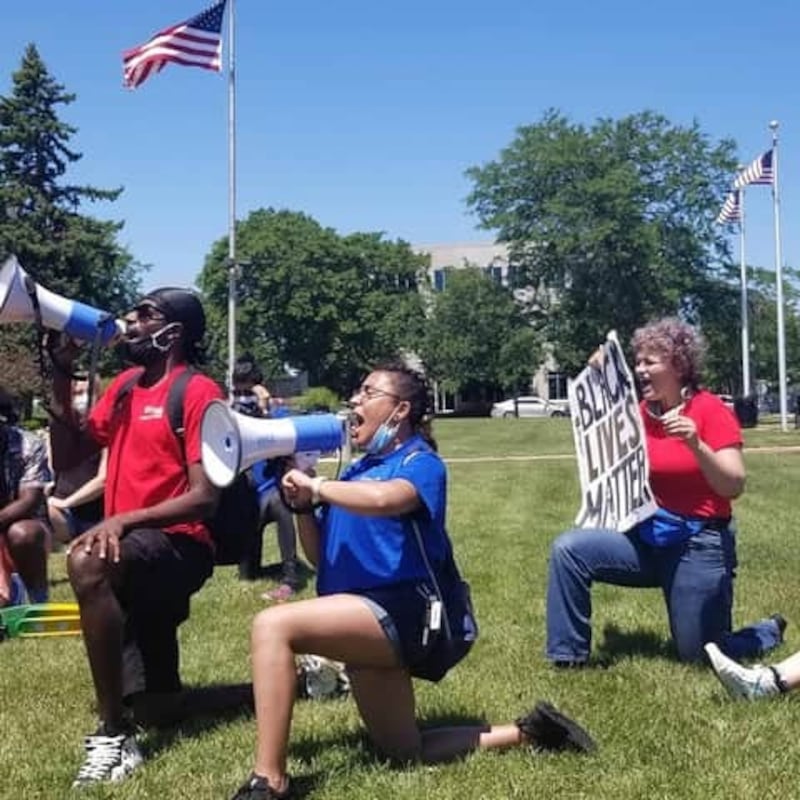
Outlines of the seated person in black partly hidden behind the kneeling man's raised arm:
M84 426L89 413L88 376L72 378L72 412L75 423L58 416L50 420L50 464L54 485L47 511L55 539L66 543L96 525L103 517L103 489L108 453ZM94 398L99 398L95 381Z

